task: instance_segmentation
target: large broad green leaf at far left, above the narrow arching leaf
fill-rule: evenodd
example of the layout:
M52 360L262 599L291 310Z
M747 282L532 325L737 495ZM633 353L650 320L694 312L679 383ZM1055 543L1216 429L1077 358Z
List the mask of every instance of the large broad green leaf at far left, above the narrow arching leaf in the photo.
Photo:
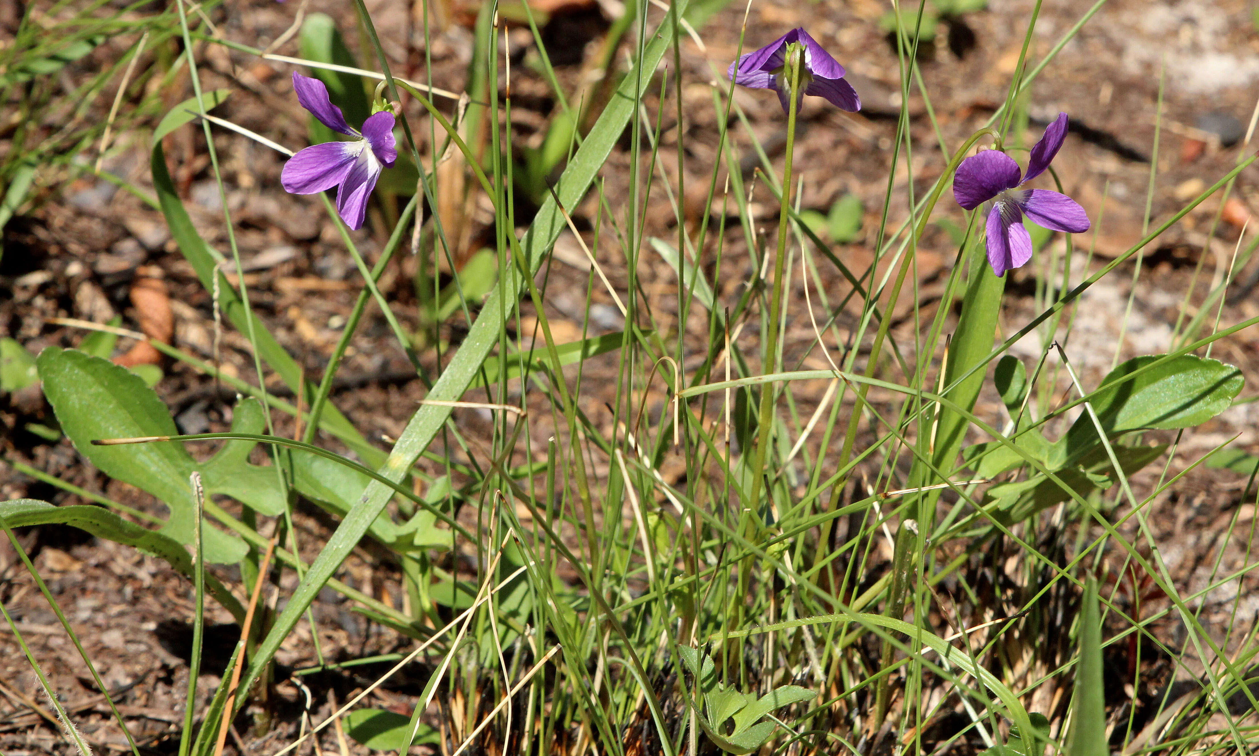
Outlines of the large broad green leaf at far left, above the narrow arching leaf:
M161 532L180 543L193 543L196 513L189 475L198 466L183 444L92 444L99 438L178 435L157 394L126 368L76 349L49 346L39 353L37 364L44 394L79 454L106 475L160 499L170 509L170 520ZM206 525L203 533L208 562L237 562L248 551L243 541L213 527Z

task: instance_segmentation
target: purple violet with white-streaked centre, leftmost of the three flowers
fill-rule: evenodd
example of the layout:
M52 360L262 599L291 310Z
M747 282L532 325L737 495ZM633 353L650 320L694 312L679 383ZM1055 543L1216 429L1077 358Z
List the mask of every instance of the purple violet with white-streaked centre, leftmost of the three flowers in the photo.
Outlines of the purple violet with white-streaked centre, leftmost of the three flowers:
M361 228L368 212L368 197L380 178L380 171L394 164L394 116L380 111L368 116L359 132L345 122L341 108L327 97L324 82L293 72L297 102L321 123L354 141L311 145L285 164L279 183L292 194L315 194L337 186L336 212L350 228Z

